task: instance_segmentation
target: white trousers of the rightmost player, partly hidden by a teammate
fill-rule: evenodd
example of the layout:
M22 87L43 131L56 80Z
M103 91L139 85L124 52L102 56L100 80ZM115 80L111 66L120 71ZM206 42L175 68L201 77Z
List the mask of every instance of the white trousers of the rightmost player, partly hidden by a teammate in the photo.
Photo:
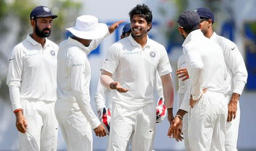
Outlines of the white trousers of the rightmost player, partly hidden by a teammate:
M230 98L231 96L226 97L227 103L229 103ZM231 122L226 123L226 141L225 141L226 151L237 151L239 123L240 123L240 104L238 101L236 118L233 119Z

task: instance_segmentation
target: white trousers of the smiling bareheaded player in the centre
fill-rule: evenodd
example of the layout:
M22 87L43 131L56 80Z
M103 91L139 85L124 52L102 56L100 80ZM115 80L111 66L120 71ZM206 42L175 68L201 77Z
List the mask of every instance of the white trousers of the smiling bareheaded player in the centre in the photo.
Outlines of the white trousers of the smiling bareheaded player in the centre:
M150 103L139 110L131 110L113 102L107 150L126 150L130 137L132 150L152 150L155 122L155 103Z

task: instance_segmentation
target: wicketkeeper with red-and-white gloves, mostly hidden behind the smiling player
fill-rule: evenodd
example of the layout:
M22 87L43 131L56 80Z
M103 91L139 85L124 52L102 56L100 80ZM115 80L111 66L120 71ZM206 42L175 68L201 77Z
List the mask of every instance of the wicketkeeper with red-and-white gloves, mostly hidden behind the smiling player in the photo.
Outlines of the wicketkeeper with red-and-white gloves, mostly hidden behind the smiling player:
M131 24L127 23L122 29L121 39L130 36ZM114 75L112 75L114 77ZM113 78L114 79L114 78ZM158 90L159 101L156 106L156 123L160 123L166 117L166 105L163 100L163 87L159 74L156 74L156 90ZM100 77L98 79L97 91L94 97L96 109L101 123L106 129L110 129L111 109L112 109L112 94L111 90L102 86ZM106 100L108 100L108 108L106 108ZM128 145L127 145L128 146ZM128 149L128 148L127 148Z

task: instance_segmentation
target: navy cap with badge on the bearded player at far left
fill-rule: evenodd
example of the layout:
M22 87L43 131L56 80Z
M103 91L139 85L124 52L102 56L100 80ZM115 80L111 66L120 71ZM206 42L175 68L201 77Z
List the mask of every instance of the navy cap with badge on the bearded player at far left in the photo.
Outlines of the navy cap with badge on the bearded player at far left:
M35 18L46 18L52 17L52 19L57 18L57 15L52 15L51 10L46 6L35 7L34 10L30 12L30 20Z

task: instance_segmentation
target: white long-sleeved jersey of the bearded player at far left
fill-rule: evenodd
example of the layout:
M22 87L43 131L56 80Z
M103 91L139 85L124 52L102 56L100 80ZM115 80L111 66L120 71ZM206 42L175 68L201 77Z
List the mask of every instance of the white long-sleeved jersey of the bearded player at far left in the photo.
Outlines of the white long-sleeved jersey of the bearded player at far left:
M13 110L20 109L20 98L56 101L58 46L46 38L44 48L31 34L11 53L6 83ZM15 89L15 93L12 92ZM19 97L20 96L20 97Z

